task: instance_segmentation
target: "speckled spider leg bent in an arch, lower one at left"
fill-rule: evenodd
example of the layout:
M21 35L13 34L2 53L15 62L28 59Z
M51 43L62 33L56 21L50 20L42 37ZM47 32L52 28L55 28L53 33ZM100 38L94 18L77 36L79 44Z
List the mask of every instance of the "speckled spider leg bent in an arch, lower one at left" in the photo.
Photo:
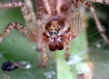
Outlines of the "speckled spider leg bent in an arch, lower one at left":
M36 36L33 33L31 33L26 27L22 27L20 23L10 23L10 24L7 26L6 30L2 33L0 33L0 42L4 39L4 37L7 34L9 34L9 32L13 28L19 30L22 34L24 34L31 41L36 41Z

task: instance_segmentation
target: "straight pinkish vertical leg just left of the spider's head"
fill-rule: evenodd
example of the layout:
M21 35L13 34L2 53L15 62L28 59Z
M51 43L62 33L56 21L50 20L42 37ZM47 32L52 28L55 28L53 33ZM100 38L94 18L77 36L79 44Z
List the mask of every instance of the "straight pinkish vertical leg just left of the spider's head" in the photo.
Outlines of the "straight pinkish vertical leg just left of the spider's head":
M36 16L37 16L37 45L38 45L38 47L37 47L37 49L38 50L40 50L41 49L41 47L42 47L42 42L41 41L43 41L43 38L42 38L42 36L43 36L43 24L42 24L42 2L41 2L42 0L36 0Z

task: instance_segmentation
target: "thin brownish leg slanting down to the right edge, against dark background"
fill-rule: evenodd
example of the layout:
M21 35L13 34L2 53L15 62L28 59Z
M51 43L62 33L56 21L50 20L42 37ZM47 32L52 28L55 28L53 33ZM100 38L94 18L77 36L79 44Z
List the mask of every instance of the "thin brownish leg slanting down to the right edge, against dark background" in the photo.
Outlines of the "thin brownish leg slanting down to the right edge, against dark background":
M107 36L105 34L105 30L102 29L102 27L101 27L101 24L100 24L100 21L99 21L97 14L96 14L96 11L95 11L93 6L92 6L91 3L89 3L89 2L86 2L85 4L86 4L86 6L90 9L90 11L92 12L93 18L95 18L96 23L97 23L98 31L99 31L100 36L103 38L103 40L106 41L106 43L109 46L109 40L108 40Z

